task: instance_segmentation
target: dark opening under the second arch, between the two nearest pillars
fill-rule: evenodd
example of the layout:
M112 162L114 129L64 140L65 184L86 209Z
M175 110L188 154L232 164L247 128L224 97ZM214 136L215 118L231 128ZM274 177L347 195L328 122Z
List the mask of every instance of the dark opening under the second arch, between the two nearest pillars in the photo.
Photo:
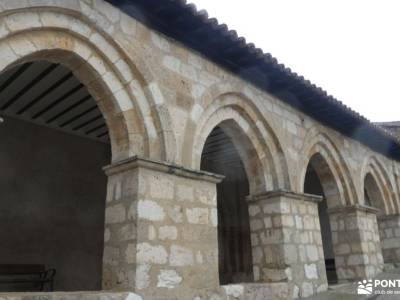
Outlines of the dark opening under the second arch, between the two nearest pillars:
M246 202L249 180L232 139L219 126L212 130L206 140L201 169L225 176L217 185L220 283L252 282L250 225Z

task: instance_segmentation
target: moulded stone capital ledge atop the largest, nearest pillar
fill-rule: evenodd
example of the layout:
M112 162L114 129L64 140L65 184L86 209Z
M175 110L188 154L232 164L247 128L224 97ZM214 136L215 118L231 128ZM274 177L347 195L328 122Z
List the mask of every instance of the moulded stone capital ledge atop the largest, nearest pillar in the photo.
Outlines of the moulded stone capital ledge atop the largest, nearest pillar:
M123 173L136 168L150 169L162 173L174 174L180 177L209 181L212 183L219 183L225 178L225 176L223 175L214 174L206 171L200 171L200 170L192 170L167 162L142 158L137 155L113 163L111 165L105 166L103 170L107 176L110 176L113 174Z

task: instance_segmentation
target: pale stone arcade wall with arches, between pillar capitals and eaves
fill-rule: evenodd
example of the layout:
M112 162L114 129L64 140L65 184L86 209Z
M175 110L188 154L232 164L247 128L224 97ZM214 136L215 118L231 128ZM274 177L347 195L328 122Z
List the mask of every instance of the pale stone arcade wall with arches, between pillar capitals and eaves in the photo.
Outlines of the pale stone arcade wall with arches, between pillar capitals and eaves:
M345 186L341 199L343 203L363 202L364 172L373 161L379 166L380 175L386 183L386 196L395 203L388 212L398 213L400 165L397 162L322 125L276 96L242 80L239 74L226 71L118 8L104 1L90 0L10 3L5 2L1 11L23 9L18 12L18 17L7 18L3 35L18 32L25 26L37 32L38 28L51 27L60 28L63 32L58 33L60 40L68 40L70 37L64 37L64 34L72 30L82 40L93 43L98 53L88 54L87 48L70 40L56 45L51 41L50 44L46 44L47 41L43 44L32 41L31 47L25 48L18 47L24 44L15 41L12 46L16 53L7 56L3 65L9 63L9 57L18 58L40 47L65 48L84 57L100 72L104 84L109 85L112 92L120 91L119 98L116 98L131 134L129 143L123 144L129 147L128 153L142 154L140 149L148 141L146 155L199 169L201 141L203 136L209 134L208 126L231 118L251 139L258 155L265 155L267 150L271 154L271 165L267 166L269 157L265 157L262 167L265 172L268 172L267 167L274 167L275 174L270 172L266 175L268 181L264 189L284 187L302 192L303 173L310 152L320 143L326 152L325 157L329 157L335 172L340 174L340 184ZM40 7L41 14L30 6ZM74 14L79 17L72 17ZM68 27L71 23L73 28ZM33 37L27 35L23 38ZM108 58L110 66L118 69L120 77L108 74L111 73L110 66L99 60L99 53ZM276 55L279 56L279 53ZM131 71L133 69L136 71ZM93 91L96 92L96 88ZM136 118L136 113L141 117ZM143 130L146 135L140 134ZM354 136L357 132L355 128Z

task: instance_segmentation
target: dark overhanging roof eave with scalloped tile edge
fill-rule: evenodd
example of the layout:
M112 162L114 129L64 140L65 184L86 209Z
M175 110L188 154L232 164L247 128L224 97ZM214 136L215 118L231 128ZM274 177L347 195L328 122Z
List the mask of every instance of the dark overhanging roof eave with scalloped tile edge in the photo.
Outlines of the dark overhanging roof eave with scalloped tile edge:
M374 151L400 160L400 142L186 0L107 0L257 87ZM262 76L260 76L262 74Z

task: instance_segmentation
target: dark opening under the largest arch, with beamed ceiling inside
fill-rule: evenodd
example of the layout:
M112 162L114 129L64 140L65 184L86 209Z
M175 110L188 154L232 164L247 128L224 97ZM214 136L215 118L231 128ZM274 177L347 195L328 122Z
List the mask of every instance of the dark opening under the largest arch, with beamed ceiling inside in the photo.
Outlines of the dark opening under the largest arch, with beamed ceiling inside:
M0 74L0 114L0 265L54 268L54 290L100 290L111 149L96 101L65 66L26 61Z

